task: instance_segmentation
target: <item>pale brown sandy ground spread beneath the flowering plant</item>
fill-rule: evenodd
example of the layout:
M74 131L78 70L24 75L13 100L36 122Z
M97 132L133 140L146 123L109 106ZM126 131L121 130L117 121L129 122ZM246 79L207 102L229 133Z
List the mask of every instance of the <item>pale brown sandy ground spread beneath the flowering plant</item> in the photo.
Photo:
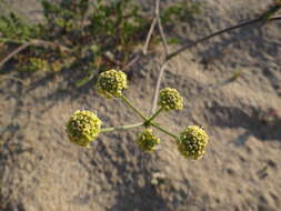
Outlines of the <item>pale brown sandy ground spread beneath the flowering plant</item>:
M201 17L178 27L194 40L255 17L271 1L204 0ZM130 71L124 93L150 110L155 60ZM232 83L223 82L241 70ZM136 73L137 72L137 73ZM11 72L8 76L17 76ZM237 30L182 53L162 87L180 90L185 109L162 113L172 131L201 124L210 134L200 161L182 158L169 137L142 153L130 132L102 134L90 149L71 144L64 123L77 109L97 111L106 125L140 121L92 84L73 88L71 72L20 74L0 83L0 172L7 211L279 211L281 207L281 23ZM218 86L220 84L220 86ZM152 185L155 173L164 183Z

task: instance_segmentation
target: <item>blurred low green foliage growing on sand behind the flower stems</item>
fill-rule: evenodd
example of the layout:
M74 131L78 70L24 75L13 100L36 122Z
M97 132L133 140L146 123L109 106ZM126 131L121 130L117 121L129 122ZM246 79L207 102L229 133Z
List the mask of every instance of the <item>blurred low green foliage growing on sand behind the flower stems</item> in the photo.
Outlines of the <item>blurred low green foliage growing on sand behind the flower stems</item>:
M41 23L27 24L13 13L0 17L0 42L22 44L38 39L67 47L70 52L29 47L13 61L18 69L31 72L76 66L84 76L77 82L78 87L89 82L97 72L117 64L124 67L144 42L153 18L136 0L61 0L59 3L41 0L41 4L44 18ZM173 3L161 13L163 27L187 21L198 11L198 3ZM153 34L152 43L158 38ZM169 38L168 43L178 43L178 40Z

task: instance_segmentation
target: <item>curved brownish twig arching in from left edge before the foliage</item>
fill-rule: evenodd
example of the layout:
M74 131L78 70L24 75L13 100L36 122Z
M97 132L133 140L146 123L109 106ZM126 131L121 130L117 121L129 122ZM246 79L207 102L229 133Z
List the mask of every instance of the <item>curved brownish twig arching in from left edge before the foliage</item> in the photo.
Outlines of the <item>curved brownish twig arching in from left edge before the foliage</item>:
M29 42L23 43L19 48L17 48L14 51L12 51L10 54L8 54L1 62L0 62L0 68L6 64L10 59L12 59L16 54L20 53L24 49L27 49L30 46L41 46L41 47L47 47L47 48L59 48L62 51L70 52L70 49L67 47L63 47L61 44L54 43L54 42L49 42L44 40L31 40Z

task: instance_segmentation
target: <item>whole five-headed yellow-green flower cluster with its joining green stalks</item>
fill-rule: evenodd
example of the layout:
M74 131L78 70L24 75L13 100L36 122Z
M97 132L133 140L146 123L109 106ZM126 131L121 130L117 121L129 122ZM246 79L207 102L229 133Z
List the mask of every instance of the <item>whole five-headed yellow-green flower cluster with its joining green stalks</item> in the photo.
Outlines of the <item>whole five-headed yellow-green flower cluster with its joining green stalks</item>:
M122 90L127 88L127 77L123 72L109 70L99 76L97 89L98 93L106 98L118 98L139 114L143 123L119 125L113 128L101 129L101 120L91 111L76 111L67 123L67 133L69 140L78 145L88 147L91 141L97 138L100 132L110 132L114 130L127 130L136 127L144 127L144 130L137 135L137 144L143 152L152 152L160 143L160 139L152 131L152 127L167 133L175 140L179 152L188 158L198 160L205 151L208 143L208 134L198 125L189 125L179 135L163 129L154 119L161 111L180 110L183 108L183 98L172 88L160 90L158 105L160 107L149 118L136 108L129 99L127 99Z

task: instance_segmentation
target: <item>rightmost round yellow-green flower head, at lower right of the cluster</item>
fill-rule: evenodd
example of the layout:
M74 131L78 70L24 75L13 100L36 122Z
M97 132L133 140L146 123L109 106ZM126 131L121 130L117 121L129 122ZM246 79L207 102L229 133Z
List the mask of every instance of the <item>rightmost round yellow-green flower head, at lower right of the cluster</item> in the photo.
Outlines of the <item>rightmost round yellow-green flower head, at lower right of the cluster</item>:
M189 125L180 133L178 149L182 155L198 160L204 154L208 143L208 134L198 125Z

